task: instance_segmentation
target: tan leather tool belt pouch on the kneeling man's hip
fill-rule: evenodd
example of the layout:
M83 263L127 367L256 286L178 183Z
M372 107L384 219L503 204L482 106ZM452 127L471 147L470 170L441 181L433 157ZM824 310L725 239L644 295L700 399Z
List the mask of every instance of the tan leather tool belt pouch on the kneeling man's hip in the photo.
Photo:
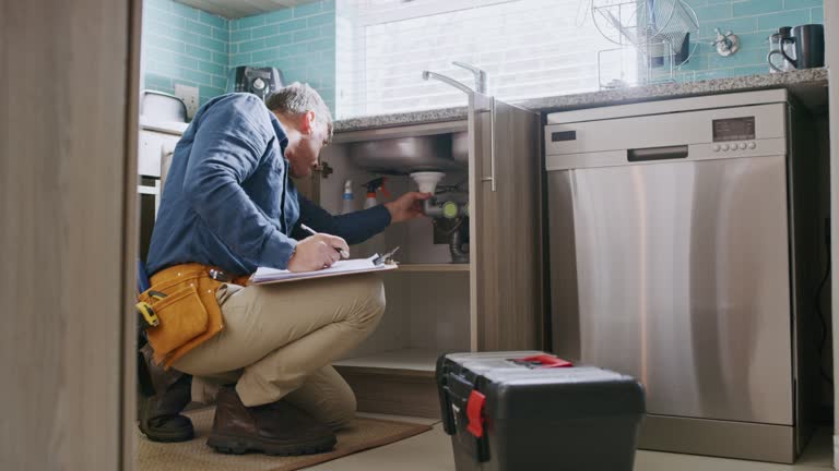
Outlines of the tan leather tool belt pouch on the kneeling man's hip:
M139 295L157 317L146 329L154 361L169 369L179 358L224 328L215 290L222 283L247 285L248 277L229 277L197 263L175 265L154 274L152 287Z

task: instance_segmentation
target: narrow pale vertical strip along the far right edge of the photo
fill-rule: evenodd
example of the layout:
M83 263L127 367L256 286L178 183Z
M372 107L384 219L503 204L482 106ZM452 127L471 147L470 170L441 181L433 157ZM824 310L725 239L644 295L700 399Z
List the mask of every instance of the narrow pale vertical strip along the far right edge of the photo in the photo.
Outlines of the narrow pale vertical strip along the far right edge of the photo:
M830 69L830 246L839 242L839 2L825 0L825 46L827 65ZM839 266L839 254L834 250L834 267ZM832 277L831 303L834 313L839 313L839 276ZM839 339L839 323L834 322L834 339ZM834 377L839 377L839 348L834 346ZM834 404L839 403L839 389L834 389ZM839 469L839 418L834 406L834 469Z

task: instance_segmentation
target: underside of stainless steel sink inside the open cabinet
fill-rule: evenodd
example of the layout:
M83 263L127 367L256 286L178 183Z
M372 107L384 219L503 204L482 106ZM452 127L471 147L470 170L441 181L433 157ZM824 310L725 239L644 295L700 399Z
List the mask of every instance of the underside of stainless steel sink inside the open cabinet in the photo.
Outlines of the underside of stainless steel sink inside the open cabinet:
M364 170L386 174L465 168L452 158L448 134L354 143L350 158Z

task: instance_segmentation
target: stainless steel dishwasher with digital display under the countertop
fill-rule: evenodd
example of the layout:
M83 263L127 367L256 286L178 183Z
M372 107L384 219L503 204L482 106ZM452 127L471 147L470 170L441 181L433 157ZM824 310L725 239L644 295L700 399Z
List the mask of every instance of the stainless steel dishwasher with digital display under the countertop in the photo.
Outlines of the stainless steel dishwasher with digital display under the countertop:
M548 117L554 351L643 383L641 448L791 462L805 444L804 128L785 90Z

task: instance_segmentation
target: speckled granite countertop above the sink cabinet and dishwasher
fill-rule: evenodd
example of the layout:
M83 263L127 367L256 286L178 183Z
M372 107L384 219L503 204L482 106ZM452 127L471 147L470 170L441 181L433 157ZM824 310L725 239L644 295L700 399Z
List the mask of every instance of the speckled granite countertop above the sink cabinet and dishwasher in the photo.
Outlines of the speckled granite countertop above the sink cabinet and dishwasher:
M778 74L767 73L761 75L744 75L701 82L643 85L621 89L534 98L523 101L513 101L513 105L534 111L551 112L766 88L789 88L794 95L803 100L808 108L820 111L823 106L827 106L827 69L806 69ZM347 132L374 128L453 121L465 118L466 107L440 108L339 120L334 123L334 130L335 132Z

